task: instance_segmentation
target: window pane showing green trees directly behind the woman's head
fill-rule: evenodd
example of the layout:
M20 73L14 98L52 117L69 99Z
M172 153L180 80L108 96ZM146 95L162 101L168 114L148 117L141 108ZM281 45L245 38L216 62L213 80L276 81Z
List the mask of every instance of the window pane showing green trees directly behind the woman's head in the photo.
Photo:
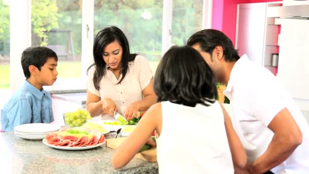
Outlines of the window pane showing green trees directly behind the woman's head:
M162 1L95 0L94 35L115 25L130 43L131 52L143 55L154 73L161 58Z

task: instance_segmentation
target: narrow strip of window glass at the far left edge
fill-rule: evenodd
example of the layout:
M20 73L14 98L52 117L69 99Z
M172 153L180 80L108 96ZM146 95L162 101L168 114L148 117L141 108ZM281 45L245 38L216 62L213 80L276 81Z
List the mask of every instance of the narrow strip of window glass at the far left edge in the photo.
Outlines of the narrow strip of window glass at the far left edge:
M10 7L0 0L0 89L10 88Z

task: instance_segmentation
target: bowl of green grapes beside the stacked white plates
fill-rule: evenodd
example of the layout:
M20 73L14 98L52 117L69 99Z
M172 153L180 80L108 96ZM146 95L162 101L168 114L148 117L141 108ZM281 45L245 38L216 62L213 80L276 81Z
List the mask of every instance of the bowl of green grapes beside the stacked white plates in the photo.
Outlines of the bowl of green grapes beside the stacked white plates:
M85 109L77 109L73 112L66 112L63 114L64 121L67 127L80 127L83 126L87 120L91 119L88 111Z

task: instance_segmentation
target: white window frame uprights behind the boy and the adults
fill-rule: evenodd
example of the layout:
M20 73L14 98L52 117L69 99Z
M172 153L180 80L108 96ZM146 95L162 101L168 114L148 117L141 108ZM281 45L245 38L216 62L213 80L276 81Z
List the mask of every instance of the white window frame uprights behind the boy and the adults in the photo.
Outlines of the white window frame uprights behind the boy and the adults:
M31 46L31 2L31 0L10 1L10 88L12 92L15 92L23 84L25 79L20 65L20 55L26 47ZM212 2L213 0L203 0L201 29L211 28ZM91 59L92 45L94 43L94 3L95 0L82 1L82 49L80 77L82 81L86 81L87 68L94 62L93 59ZM163 55L172 44L172 8L173 0L163 0L161 55ZM14 13L16 11L18 11L18 13ZM19 30L19 28L23 28L23 30ZM68 90L57 89L56 86L47 89Z

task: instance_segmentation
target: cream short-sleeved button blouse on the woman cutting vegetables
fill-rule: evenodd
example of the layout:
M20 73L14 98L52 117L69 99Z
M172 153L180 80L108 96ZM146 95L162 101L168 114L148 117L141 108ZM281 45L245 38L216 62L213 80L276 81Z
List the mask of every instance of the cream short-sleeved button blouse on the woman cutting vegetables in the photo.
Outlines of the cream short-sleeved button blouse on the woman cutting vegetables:
M103 59L103 58L102 58ZM129 62L126 77L119 83L122 74L117 79L112 71L108 68L104 70L104 76L100 81L100 91L96 90L93 76L95 66L91 67L88 72L87 91L97 95L101 99L110 98L116 104L118 112L125 114L126 108L133 102L142 100L142 90L150 83L153 77L150 66L146 58L137 55L133 62ZM114 119L111 115L102 115L102 120Z

